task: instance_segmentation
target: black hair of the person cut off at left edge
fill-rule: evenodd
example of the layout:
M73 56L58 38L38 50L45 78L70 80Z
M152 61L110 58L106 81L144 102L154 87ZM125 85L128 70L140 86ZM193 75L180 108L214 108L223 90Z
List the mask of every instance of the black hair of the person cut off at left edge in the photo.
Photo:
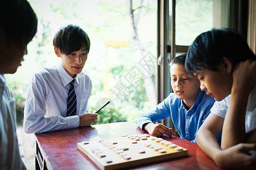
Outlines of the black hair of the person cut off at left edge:
M8 41L26 48L38 30L38 18L26 0L8 0L0 3L0 29Z

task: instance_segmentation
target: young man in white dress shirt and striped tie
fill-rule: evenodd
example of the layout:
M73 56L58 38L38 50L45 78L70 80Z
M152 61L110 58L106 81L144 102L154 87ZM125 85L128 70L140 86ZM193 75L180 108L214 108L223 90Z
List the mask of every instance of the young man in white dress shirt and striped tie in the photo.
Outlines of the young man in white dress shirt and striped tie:
M97 119L96 113L86 113L92 82L81 72L90 49L88 35L79 26L68 25L56 33L53 46L61 62L43 68L32 77L24 107L26 133L89 126ZM72 86L73 90L70 90ZM72 107L73 113L69 113L69 91L74 89L75 98L72 99L76 103Z

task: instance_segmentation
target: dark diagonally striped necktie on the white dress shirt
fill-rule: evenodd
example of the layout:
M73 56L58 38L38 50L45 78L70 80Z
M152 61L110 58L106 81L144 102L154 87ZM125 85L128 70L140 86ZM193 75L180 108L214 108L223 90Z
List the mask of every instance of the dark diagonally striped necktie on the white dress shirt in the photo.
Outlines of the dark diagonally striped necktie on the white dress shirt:
M76 115L76 92L75 79L69 83L68 100L67 100L67 116Z

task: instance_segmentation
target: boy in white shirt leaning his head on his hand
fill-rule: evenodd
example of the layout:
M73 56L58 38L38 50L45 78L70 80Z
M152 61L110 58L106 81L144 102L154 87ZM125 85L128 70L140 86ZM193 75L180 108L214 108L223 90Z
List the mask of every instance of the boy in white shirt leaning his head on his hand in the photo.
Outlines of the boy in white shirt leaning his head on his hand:
M231 29L201 33L185 67L217 100L196 135L198 145L221 167L255 166L256 56L246 40ZM221 130L219 146L215 137Z

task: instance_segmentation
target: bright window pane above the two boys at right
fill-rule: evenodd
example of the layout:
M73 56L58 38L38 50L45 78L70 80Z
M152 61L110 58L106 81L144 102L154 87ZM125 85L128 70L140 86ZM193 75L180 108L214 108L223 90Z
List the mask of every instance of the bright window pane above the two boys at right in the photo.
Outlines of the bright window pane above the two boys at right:
M213 28L213 0L176 0L176 45L191 45Z

